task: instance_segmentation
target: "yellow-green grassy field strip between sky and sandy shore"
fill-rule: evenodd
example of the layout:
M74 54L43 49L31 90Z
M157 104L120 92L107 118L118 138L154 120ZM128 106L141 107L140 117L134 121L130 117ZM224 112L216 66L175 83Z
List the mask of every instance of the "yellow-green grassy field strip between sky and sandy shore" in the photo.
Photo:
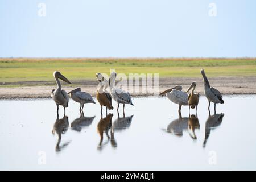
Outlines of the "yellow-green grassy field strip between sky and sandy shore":
M0 85L23 81L54 81L55 70L69 80L95 79L97 72L159 73L159 77L256 76L256 58L250 59L0 59ZM13 84L11 84L13 83ZM40 85L40 83L38 83ZM3 85L2 85L3 86Z

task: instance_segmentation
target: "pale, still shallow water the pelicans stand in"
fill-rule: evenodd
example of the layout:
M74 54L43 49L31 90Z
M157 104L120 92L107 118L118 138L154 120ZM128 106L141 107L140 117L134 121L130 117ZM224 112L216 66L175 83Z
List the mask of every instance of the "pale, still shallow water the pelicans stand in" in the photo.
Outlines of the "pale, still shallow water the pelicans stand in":
M201 96L198 120L188 118L188 107L179 119L167 98L133 98L125 118L120 107L119 118L114 109L102 119L97 102L85 105L80 117L79 104L70 101L59 120L52 100L2 100L0 169L255 170L256 96L224 100L208 117Z

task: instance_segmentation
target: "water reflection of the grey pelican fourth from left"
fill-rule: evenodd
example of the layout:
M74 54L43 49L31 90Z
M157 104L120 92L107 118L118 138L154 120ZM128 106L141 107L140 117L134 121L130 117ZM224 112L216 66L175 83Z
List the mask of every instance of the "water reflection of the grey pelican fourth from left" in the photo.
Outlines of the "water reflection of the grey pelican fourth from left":
M111 144L113 147L117 147L117 142L114 139L114 132L115 131L122 131L131 126L131 121L133 120L133 115L129 117L125 117L125 114L123 113L123 117L119 117L113 122L112 128L111 128Z

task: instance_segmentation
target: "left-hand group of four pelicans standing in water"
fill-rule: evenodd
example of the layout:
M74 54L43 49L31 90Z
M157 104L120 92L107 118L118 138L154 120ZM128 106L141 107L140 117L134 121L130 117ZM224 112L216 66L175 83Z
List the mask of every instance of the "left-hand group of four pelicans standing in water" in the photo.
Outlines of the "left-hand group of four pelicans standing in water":
M71 84L71 82L63 76L60 72L55 71L53 72L53 77L57 83L57 88L52 89L51 97L57 106L57 115L59 115L59 105L64 107L64 115L65 115L65 108L68 107L69 96L75 101L80 104L80 113L83 113L84 104L93 103L95 104L93 97L87 93L82 92L81 88L76 88L71 90L70 92L66 92L65 90L61 89L60 80ZM125 92L121 88L115 88L115 79L117 77L117 73L112 72L110 74L109 80L106 80L101 73L96 73L96 78L99 82L98 89L96 92L96 98L101 105L101 115L102 115L102 106L106 107L106 114L108 109L112 110L114 107L112 106L112 99L117 102L117 111L119 109L119 104L123 104L123 113L125 110L125 104L133 105L131 101L131 96L129 92ZM60 79L60 80L59 80ZM68 96L69 95L69 96ZM119 113L118 113L119 114Z

